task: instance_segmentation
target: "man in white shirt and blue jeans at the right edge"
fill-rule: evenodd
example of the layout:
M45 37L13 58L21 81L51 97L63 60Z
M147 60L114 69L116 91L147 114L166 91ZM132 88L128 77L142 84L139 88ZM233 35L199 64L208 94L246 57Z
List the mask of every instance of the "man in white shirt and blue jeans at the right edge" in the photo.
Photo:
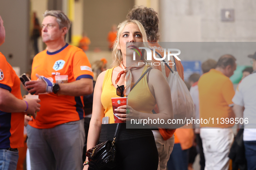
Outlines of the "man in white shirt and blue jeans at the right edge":
M256 53L248 57L253 58L253 74L242 80L232 101L236 117L244 120L243 141L248 170L256 170Z

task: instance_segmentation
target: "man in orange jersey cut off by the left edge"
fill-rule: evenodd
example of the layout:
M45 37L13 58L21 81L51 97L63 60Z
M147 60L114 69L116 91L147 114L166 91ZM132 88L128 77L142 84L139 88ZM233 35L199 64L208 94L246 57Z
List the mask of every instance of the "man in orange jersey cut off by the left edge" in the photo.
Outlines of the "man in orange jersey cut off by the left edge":
M0 16L0 46L4 43L5 29ZM24 112L39 111L39 99L22 100L20 80L12 66L0 53L0 169L16 170L19 154L23 147Z

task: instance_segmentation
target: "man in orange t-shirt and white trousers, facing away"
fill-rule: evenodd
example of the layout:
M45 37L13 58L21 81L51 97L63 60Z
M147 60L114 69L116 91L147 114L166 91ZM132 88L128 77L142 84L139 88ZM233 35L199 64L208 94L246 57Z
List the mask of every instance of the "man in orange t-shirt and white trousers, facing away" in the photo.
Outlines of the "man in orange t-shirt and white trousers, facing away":
M218 60L216 69L203 74L198 81L201 119L214 118L214 122L210 120L207 124L201 124L200 129L207 170L228 170L229 167L228 154L233 142L233 132L228 128L233 124L220 122L222 119L234 118L232 98L235 91L229 78L236 68L235 57L224 55Z

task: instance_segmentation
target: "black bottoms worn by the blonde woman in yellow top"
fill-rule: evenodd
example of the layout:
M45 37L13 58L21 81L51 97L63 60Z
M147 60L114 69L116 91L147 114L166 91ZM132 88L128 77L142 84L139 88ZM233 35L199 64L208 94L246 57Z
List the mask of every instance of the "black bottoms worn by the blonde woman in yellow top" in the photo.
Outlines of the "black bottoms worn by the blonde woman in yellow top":
M102 125L100 143L113 140L117 124ZM117 167L104 170L157 170L158 151L151 129L126 129L120 123L117 139Z

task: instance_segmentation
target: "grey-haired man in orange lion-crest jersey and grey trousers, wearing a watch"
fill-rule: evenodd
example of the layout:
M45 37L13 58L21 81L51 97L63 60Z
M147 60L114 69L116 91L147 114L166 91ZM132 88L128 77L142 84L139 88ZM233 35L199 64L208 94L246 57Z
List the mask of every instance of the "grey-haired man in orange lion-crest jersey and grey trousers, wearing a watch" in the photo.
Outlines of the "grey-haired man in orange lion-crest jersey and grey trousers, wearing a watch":
M71 22L61 11L45 11L42 41L34 57L29 92L41 99L41 112L26 127L32 170L81 170L84 110L81 96L93 91L86 54L65 42Z

